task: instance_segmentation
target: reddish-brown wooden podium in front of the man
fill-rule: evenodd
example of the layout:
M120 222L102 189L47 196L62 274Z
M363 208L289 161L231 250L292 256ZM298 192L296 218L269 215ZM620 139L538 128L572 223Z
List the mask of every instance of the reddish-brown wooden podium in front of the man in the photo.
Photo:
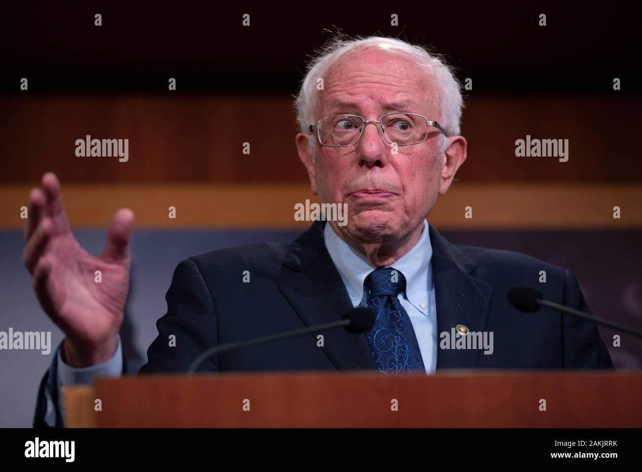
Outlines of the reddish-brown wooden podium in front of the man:
M642 427L635 373L162 374L63 394L68 427Z

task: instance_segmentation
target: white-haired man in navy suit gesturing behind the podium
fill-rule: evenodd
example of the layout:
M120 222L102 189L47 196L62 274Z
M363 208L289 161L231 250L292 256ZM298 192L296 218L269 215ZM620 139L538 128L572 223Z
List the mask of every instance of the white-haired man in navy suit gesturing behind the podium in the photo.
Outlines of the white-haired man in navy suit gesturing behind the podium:
M536 284L546 270L544 297L586 311L571 272L514 252L452 245L426 222L466 159L460 87L440 58L397 39L335 39L309 65L297 109L297 150L311 191L322 203L347 204L347 224L318 220L290 245L182 261L141 373L186 371L213 345L330 322L356 306L376 311L365 334L313 333L221 353L200 369L612 368L594 323L552 312L534 317L508 304L513 284ZM118 333L134 215L116 213L94 258L70 232L55 175L42 186L31 192L24 261L40 304L66 337L40 386L35 424L60 426L60 385L123 372ZM243 283L245 270L251 283ZM455 349L447 340L455 332L489 334L492 346Z

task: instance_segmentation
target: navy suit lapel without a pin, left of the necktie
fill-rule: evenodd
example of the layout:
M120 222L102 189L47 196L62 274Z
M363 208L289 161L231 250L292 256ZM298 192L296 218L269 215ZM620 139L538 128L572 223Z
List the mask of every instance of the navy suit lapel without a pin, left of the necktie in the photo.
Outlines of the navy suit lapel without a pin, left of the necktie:
M279 288L308 326L336 321L352 308L343 280L325 249L324 223L314 222L292 243L280 274ZM322 349L338 370L376 370L365 333L333 329L314 334L324 336Z

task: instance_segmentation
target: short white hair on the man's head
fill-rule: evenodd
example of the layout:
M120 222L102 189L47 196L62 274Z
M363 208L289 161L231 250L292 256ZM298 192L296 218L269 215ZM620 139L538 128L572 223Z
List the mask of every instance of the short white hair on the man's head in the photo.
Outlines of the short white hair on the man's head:
M453 74L453 68L447 64L442 55L429 52L427 48L410 44L401 39L379 36L350 38L342 33L337 33L318 49L308 63L306 76L295 100L297 121L302 133L308 133L309 125L317 122L314 116L317 105L317 79L322 78L331 66L349 53L356 53L368 48L381 48L410 56L417 66L422 67L426 73L426 81L435 85L435 101L439 114L437 121L446 130L447 135L460 134L464 100L460 91L460 83ZM428 119L432 118L428 117ZM446 137L443 135L442 137L442 147L445 148ZM314 139L313 136L311 143L312 139ZM315 150L317 146L312 147Z

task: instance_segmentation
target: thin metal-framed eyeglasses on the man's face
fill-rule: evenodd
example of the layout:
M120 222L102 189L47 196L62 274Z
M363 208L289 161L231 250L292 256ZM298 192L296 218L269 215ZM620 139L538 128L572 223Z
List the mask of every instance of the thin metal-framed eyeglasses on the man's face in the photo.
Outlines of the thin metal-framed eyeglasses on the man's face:
M447 136L437 121L429 121L416 113L389 113L378 120L358 115L332 115L320 119L317 125L310 125L309 130L313 132L316 128L319 143L324 146L340 148L358 143L368 123L377 123L383 139L398 146L423 143L428 139L429 127L435 127Z

